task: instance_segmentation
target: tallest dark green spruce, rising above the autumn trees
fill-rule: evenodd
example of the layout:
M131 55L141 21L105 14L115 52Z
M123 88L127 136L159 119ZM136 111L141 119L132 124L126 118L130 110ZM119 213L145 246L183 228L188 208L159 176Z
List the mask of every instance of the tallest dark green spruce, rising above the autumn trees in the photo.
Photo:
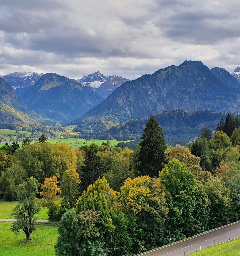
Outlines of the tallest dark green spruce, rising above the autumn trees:
M154 116L146 124L140 142L140 175L156 177L165 165L165 134Z

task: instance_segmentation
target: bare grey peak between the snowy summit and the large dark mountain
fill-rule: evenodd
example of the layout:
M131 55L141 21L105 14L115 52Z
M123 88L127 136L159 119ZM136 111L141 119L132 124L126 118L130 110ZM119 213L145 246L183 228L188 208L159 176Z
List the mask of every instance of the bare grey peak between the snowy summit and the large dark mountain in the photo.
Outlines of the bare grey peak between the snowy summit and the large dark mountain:
M102 83L97 89L96 93L103 98L107 98L115 89L120 87L123 83L129 81L122 76L110 76L104 83Z

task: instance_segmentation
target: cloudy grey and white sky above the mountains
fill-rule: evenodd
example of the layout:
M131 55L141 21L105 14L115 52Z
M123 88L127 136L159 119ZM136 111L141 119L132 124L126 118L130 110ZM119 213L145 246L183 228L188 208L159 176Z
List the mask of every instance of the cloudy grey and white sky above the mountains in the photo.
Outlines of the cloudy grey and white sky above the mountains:
M0 0L0 75L240 65L239 0Z

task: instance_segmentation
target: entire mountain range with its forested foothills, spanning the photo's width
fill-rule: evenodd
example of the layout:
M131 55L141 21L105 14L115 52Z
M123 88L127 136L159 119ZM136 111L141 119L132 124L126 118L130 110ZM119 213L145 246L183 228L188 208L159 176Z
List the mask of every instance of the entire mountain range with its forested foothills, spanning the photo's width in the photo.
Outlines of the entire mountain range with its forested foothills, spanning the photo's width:
M240 112L239 72L187 60L132 81L99 71L80 79L15 72L0 80L0 125L35 120L76 125L74 131L86 138L126 140L137 138L153 114L169 133L168 142L181 143L183 133L191 140L203 127L215 130L227 112Z

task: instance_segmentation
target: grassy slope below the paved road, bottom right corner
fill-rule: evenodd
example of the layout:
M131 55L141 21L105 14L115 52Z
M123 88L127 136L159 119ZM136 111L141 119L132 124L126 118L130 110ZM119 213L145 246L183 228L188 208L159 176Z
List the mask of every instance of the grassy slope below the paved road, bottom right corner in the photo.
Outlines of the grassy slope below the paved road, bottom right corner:
M239 256L240 238L190 254L190 256Z

